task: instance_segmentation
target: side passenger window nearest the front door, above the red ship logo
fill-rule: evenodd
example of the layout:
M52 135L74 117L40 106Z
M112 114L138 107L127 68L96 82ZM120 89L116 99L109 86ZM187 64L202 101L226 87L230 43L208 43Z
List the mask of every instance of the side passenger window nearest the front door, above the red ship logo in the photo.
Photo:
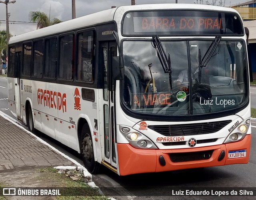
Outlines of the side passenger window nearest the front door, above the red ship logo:
M94 32L87 31L78 34L78 65L77 79L79 81L93 81L94 68Z

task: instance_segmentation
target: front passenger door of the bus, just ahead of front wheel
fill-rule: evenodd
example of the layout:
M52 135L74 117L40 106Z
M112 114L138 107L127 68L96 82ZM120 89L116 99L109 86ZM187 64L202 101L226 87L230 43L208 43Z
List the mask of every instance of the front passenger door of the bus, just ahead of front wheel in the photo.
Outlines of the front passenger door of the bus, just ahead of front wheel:
M104 161L116 168L116 136L114 116L114 81L111 61L116 56L116 41L102 42L100 54L104 71L103 117L104 117ZM104 164L104 162L103 162Z

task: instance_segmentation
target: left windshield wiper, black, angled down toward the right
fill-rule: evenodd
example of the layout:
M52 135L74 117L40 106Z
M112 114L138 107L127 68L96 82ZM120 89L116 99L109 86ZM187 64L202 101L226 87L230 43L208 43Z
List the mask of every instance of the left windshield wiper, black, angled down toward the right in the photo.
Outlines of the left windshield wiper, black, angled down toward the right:
M154 48L157 50L157 56L160 60L160 63L164 69L164 73L169 73L169 82L172 89L172 65L170 53L168 53L168 58L164 48L162 46L161 40L158 36L152 36Z

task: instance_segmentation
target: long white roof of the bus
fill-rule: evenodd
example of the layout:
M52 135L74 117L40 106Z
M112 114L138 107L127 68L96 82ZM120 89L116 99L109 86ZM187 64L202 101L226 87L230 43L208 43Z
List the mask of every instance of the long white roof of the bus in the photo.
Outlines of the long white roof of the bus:
M16 42L22 42L26 40L32 40L43 36L50 36L57 33L66 32L69 30L76 30L94 24L101 24L110 21L116 21L117 24L121 23L123 14L132 10L166 10L166 9L184 9L184 10L218 10L226 12L236 12L232 8L220 7L220 6L209 6L203 4L141 4L135 6L120 6L118 8L111 8L103 10L86 16L82 16L76 19L61 22L48 26L46 28L34 30L25 34L21 34L10 38L9 44ZM239 13L238 13L239 14Z

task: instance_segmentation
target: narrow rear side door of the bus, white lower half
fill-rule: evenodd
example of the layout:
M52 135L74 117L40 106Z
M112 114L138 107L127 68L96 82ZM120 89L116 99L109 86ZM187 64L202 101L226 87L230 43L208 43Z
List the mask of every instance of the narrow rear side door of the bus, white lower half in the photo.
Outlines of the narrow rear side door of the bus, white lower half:
M22 119L21 114L21 104L20 104L20 87L23 87L22 84L20 84L20 66L21 66L21 51L15 52L15 59L16 59L16 70L17 70L17 78L15 78L15 104L16 104L16 114L18 119Z

